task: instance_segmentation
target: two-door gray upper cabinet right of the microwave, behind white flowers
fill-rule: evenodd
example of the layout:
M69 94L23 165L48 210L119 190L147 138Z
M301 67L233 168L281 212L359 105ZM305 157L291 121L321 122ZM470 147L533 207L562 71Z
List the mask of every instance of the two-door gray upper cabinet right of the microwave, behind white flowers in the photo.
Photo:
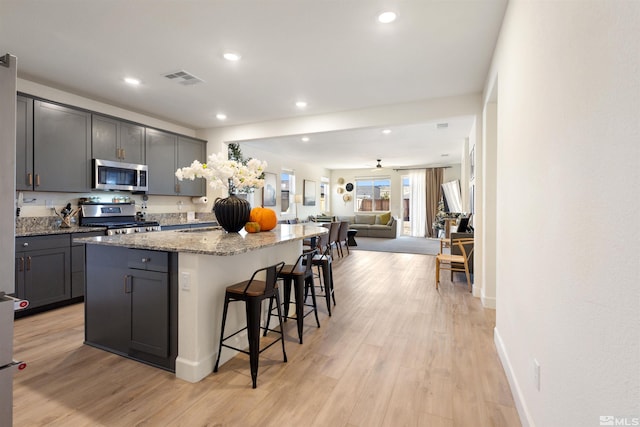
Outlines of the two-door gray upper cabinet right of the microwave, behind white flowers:
M204 196L204 180L178 181L175 172L179 167L188 166L194 160L206 162L206 144L206 141L147 128L148 193L165 196Z

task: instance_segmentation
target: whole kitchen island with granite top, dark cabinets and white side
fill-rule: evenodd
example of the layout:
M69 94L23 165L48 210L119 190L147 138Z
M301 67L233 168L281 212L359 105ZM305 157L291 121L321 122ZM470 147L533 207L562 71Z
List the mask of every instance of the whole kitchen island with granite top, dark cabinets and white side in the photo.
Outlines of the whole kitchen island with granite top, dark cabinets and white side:
M85 342L168 370L189 382L213 371L225 288L280 261L326 228L278 225L246 234L178 230L76 239L86 244ZM233 304L228 330L244 326ZM246 346L238 334L237 346ZM235 353L224 349L221 362ZM174 368L175 367L175 368Z

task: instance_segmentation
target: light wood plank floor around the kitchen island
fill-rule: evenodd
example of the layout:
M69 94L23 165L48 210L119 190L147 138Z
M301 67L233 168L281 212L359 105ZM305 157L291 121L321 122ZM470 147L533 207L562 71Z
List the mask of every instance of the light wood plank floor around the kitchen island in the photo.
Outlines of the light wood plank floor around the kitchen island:
M82 344L82 304L19 319L14 426L519 426L493 344L495 312L434 257L353 251L334 265L333 316L287 322L261 355L197 384Z

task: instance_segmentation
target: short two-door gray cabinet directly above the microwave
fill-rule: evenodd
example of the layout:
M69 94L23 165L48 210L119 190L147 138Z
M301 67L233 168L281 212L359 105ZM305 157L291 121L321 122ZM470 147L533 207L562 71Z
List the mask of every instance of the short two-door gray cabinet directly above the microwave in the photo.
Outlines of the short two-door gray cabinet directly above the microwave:
M100 114L92 116L94 159L145 164L145 128Z

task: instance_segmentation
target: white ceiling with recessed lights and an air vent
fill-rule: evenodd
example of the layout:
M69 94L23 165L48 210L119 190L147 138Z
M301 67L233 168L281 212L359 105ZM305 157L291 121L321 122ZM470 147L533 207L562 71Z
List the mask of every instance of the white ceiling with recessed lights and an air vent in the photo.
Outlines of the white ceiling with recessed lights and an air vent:
M213 128L479 93L506 4L0 0L0 54L18 57L24 79L193 129ZM385 10L398 19L377 22ZM242 60L222 59L227 50ZM178 70L204 83L184 86L164 77ZM132 88L123 82L126 76L142 84ZM307 108L296 108L298 100ZM219 112L228 119L216 119ZM454 148L461 152L471 120L444 121L450 123L445 131L427 123L393 129L384 138L365 129L317 134L313 141L339 144L343 156L354 159L327 163L330 168L362 167L376 158L404 165L401 156L387 154L389 144L412 164L437 163L443 153L450 154L446 163L455 163ZM366 158L356 159L363 147Z

